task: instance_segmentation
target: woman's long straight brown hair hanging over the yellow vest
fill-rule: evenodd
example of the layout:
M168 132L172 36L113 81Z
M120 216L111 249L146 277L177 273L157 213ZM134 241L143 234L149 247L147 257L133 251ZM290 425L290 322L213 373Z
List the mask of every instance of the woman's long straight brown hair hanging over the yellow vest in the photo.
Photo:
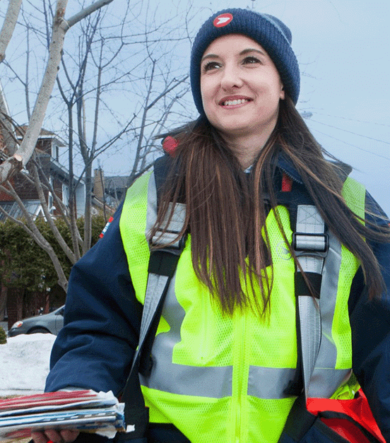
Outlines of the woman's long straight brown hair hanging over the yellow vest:
M329 230L360 261L370 297L381 293L384 285L378 261L362 238L389 242L390 230L362 224L348 208L341 196L343 181L336 167L326 160L325 151L290 98L280 101L276 128L249 175L242 172L235 155L206 121L179 131L177 140L179 146L151 235L164 228L162 220L170 216L169 203L184 199L187 218L179 236L185 230L191 232L196 276L220 300L225 313L250 306L265 314L270 306L273 273L269 277L268 273L261 274L266 266L272 269L265 224L269 208L264 205L264 196L268 195L273 210L278 204L273 177L280 153L299 172ZM274 213L287 242L278 213ZM259 281L261 300L248 296L248 286L253 290L255 279Z

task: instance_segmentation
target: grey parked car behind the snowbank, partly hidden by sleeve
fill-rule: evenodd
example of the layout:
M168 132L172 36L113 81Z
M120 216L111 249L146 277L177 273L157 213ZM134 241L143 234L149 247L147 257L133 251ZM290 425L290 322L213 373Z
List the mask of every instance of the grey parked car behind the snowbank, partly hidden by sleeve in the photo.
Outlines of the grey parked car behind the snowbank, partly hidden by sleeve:
M64 326L64 306L55 309L49 314L36 315L16 321L8 330L8 337L18 336L20 333L52 333L57 336Z

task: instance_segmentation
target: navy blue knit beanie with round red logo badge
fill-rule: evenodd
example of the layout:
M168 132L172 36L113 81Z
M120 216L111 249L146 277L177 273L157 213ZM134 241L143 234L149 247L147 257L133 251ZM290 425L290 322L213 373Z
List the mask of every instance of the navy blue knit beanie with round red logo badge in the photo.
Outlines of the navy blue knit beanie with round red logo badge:
M285 93L296 104L300 95L300 69L291 48L292 38L288 27L268 14L249 9L224 9L203 23L191 50L191 89L201 116L205 115L201 98L201 59L213 40L227 34L247 35L264 47L278 69Z

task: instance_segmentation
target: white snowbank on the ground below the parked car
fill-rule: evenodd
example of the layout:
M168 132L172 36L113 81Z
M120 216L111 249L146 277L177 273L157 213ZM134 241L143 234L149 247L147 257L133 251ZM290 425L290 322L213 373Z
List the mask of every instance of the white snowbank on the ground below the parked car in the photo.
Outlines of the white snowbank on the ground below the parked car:
M43 392L55 338L51 333L7 337L0 345L0 396Z

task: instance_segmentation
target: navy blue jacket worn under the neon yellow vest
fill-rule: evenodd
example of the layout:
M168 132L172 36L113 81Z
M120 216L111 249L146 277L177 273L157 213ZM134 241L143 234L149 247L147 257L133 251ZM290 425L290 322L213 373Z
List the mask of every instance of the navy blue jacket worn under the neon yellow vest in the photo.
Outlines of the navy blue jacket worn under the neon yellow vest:
M289 163L281 160L279 166L302 184ZM387 223L368 193L366 206L377 214L367 215L367 220L379 225ZM105 236L73 266L64 328L54 343L46 391L78 386L120 395L124 388L138 344L142 306L134 294L119 232L121 213L122 206ZM369 399L382 434L390 442L390 244L371 246L382 266L388 290L379 300L369 301L361 268L353 280L349 298L353 372ZM166 441L188 442L185 437L177 438L170 435Z

